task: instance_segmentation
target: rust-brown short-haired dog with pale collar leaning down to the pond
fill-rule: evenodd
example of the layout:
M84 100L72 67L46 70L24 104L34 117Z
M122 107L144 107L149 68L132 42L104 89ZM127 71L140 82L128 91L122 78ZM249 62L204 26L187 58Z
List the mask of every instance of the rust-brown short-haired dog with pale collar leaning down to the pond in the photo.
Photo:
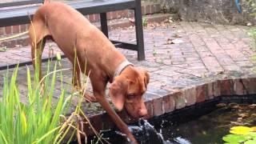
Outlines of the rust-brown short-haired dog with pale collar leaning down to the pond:
M32 60L35 62L37 52L40 67L46 38L51 38L75 65L75 85L81 86L80 70L85 74L90 71L94 96L85 97L90 101L97 100L130 141L136 142L126 124L106 101L106 84L111 82L110 99L118 110L125 107L130 116L141 118L147 114L142 94L149 83L149 74L132 66L102 31L90 24L77 10L61 2L47 2L39 7L30 25L29 35ZM75 55L77 61L74 60ZM41 68L39 72L41 78Z

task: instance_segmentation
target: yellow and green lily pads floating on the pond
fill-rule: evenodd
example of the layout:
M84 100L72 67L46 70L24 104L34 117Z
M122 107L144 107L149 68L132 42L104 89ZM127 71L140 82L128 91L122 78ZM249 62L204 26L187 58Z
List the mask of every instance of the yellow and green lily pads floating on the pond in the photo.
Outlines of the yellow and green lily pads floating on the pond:
M228 144L252 144L256 143L255 127L234 126L230 128L230 133L222 138Z

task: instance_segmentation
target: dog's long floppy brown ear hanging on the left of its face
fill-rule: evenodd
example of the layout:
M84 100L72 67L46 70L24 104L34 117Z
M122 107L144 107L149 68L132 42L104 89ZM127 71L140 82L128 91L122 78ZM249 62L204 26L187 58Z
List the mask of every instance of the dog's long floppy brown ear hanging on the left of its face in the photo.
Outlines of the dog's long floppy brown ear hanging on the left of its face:
M125 95L128 89L126 79L117 77L110 85L110 99L114 106L121 111L125 104Z

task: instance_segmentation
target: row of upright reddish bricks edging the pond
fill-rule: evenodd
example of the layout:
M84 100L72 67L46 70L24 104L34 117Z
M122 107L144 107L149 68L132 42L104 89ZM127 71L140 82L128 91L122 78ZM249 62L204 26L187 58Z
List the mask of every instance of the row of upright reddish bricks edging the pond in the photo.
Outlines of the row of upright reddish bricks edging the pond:
M175 91L158 90L155 93L146 93L148 110L146 118L154 118L219 96L242 96L246 94L256 94L256 75L242 78L215 78ZM127 123L136 122L122 113L119 115ZM106 113L90 116L90 122L96 130L108 130L115 127ZM90 130L86 131L90 133Z

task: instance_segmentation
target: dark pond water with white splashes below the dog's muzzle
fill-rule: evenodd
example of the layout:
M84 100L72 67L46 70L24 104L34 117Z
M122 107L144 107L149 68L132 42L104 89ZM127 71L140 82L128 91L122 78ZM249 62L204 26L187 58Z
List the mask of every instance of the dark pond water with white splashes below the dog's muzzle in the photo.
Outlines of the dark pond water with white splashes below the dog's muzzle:
M242 97L241 97L242 98ZM186 107L158 118L150 123L130 126L139 143L217 144L229 134L232 126L256 126L256 105L253 99L222 98ZM227 100L228 99L228 100ZM151 126L151 125L152 126ZM151 127L150 127L151 126ZM117 131L105 132L110 143L128 143Z

